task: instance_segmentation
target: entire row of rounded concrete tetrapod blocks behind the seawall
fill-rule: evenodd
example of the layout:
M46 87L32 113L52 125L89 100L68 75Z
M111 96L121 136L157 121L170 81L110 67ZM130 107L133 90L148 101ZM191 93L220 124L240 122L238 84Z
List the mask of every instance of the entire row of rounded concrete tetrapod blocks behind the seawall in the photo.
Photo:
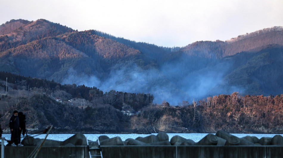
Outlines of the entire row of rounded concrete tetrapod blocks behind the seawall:
M21 144L24 146L35 146L40 145L42 139L33 138L33 137L25 137ZM99 140L99 141L98 141ZM65 141L55 141L55 140L46 140L43 144L44 146L65 146L69 143L72 145L88 145L91 147L94 146L147 146L147 145L166 145L166 146L266 146L266 145L279 145L283 146L283 136L275 135L273 138L271 137L262 137L257 138L255 136L245 136L243 138L238 138L234 135L231 135L223 130L217 131L216 134L207 134L200 141L195 142L191 139L183 138L179 135L175 135L169 140L169 136L164 133L158 133L157 135L149 135L146 137L138 137L136 139L128 138L125 141L122 141L120 137L109 138L106 135L100 135L97 141L89 141L87 143L86 137L83 133L76 133ZM9 145L7 145L9 146Z

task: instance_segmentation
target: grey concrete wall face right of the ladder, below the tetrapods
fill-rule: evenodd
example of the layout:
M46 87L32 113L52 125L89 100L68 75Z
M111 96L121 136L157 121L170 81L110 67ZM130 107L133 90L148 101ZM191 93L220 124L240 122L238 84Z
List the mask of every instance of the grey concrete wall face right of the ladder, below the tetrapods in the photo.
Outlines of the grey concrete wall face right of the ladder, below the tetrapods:
M282 158L283 146L102 146L103 158Z

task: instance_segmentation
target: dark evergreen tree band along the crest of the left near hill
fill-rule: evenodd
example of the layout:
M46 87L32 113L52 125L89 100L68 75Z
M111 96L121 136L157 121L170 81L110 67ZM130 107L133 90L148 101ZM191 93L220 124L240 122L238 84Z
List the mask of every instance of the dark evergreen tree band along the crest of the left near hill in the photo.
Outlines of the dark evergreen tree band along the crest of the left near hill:
M109 92L103 92L97 87L87 87L85 85L76 84L59 84L46 79L37 79L32 77L25 77L21 75L15 75L12 73L0 72L0 79L5 81L7 78L8 83L14 84L14 87L8 87L8 89L18 89L18 87L24 87L23 89L32 90L33 88L44 89L49 95L52 93L54 97L60 97L63 100L69 100L72 98L83 98L88 100L94 106L109 104L115 108L122 109L122 106L133 107L133 109L141 109L144 106L148 106L153 102L154 96L152 94L144 93L127 93L111 90ZM1 84L1 87L6 90L6 85Z

